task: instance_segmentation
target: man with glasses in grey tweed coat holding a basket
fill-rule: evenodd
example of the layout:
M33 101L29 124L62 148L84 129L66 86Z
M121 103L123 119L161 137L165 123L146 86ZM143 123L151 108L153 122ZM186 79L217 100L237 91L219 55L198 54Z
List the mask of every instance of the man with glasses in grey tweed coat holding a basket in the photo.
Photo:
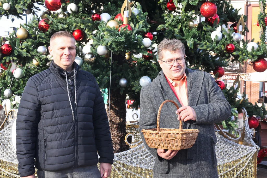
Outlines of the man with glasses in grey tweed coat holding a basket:
M149 85L142 87L140 96L139 130L156 128L160 104L166 103L160 114L160 128L198 129L195 144L189 149L163 150L146 148L156 158L154 178L217 178L214 123L230 117L231 106L213 77L202 70L188 69L184 45L179 40L164 39L158 45L162 71ZM177 117L178 114L178 117Z

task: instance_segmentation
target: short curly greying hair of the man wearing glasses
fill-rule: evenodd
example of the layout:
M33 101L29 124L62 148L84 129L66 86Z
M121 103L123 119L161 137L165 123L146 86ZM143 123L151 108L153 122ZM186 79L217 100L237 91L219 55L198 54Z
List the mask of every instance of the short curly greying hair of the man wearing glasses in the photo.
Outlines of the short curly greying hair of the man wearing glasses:
M181 50L185 55L184 44L180 40L164 38L158 45L159 60L162 60L164 51L175 52L178 50Z

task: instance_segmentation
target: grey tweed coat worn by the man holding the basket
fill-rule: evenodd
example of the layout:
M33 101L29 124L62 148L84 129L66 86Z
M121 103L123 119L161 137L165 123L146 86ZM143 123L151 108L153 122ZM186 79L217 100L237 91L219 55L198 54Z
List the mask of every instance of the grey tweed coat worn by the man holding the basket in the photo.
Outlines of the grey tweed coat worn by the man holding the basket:
M198 129L200 132L193 147L179 150L171 160L158 156L156 149L149 148L141 133L146 148L156 158L153 168L154 178L217 178L217 159L215 144L217 138L214 123L224 121L231 114L231 106L221 89L209 73L186 68L188 106L194 108L196 121L186 121L183 129ZM142 129L156 128L156 118L160 104L174 100L181 104L174 95L167 80L160 71L149 85L142 87L140 96L140 123ZM160 128L179 128L176 107L166 103L160 114Z

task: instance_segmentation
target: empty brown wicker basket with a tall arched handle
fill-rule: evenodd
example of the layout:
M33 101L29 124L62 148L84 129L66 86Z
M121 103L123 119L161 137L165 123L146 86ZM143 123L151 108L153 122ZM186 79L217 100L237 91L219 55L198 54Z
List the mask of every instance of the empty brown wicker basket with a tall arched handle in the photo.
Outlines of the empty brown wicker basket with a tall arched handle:
M164 101L158 111L157 128L142 130L146 144L150 148L167 149L167 150L182 150L191 148L198 136L198 129L182 129L182 120L180 120L179 129L160 129L159 116L162 106L167 103L173 103L177 109L178 105L172 100Z

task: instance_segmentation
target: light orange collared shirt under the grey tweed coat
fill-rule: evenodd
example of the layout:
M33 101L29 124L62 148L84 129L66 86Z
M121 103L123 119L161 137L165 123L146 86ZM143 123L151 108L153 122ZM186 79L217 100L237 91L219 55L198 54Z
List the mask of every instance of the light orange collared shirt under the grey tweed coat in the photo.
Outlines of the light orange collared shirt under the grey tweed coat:
M166 77L166 76L165 76ZM186 74L184 75L180 81L172 81L170 78L166 77L171 85L174 87L176 95L178 97L179 102L182 106L188 106L188 98L187 98L187 82L186 82Z

